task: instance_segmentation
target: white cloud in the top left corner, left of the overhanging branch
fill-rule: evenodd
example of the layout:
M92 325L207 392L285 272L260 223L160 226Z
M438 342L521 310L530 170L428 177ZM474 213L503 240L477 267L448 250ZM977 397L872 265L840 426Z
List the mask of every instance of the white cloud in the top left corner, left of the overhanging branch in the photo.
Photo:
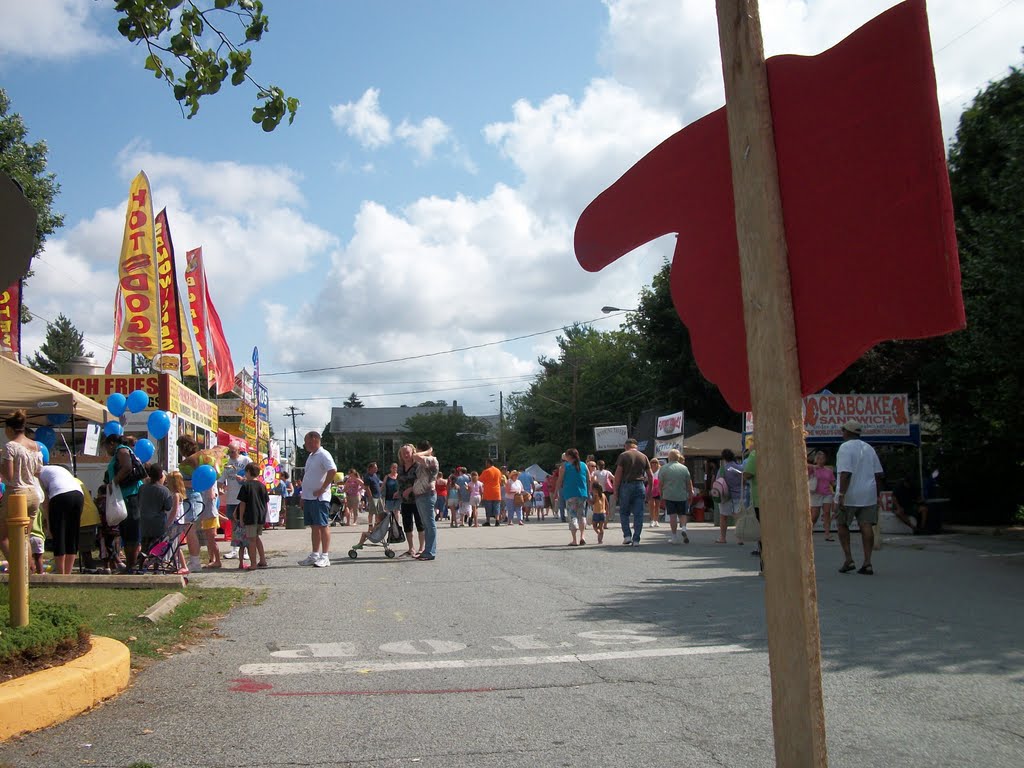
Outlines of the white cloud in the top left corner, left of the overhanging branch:
M0 58L72 58L109 50L93 0L0 0Z

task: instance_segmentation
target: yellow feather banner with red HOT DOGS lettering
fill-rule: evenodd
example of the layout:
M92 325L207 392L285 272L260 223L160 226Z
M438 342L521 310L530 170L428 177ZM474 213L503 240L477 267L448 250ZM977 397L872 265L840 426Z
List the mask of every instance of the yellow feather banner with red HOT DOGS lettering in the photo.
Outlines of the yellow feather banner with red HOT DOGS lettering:
M151 359L160 353L160 283L150 179L143 171L131 183L118 286L124 298L120 346Z

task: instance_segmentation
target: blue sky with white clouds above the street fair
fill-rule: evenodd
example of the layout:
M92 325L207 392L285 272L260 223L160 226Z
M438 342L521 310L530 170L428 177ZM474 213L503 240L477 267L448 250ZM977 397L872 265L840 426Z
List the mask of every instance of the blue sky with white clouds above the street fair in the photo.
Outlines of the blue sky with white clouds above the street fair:
M762 0L766 52L820 52L893 4ZM26 300L44 319L63 311L103 359L140 169L168 208L179 268L204 248L237 367L254 344L265 372L351 366L635 306L671 241L589 274L575 218L723 100L713 0L264 0L251 74L302 101L293 126L265 134L251 88L225 86L184 120L144 50L117 36L112 5L0 0L0 85L49 145L66 217ZM1020 66L1024 2L933 0L929 12L948 140L977 90ZM44 333L27 326L26 350ZM554 339L267 377L271 416L280 434L294 403L300 429L319 428L351 391L368 406L494 413Z

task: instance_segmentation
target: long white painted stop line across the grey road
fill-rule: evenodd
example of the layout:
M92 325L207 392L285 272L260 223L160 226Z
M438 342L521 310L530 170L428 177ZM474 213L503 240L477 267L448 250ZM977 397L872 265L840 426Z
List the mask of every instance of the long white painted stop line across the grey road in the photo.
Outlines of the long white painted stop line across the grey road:
M416 672L419 670L469 670L497 667L531 667L545 664L587 664L713 653L743 653L742 645L694 645L685 648L631 648L598 653L563 653L553 656L506 656L499 658L438 658L422 662L292 662L246 664L243 675L350 675L370 672Z

